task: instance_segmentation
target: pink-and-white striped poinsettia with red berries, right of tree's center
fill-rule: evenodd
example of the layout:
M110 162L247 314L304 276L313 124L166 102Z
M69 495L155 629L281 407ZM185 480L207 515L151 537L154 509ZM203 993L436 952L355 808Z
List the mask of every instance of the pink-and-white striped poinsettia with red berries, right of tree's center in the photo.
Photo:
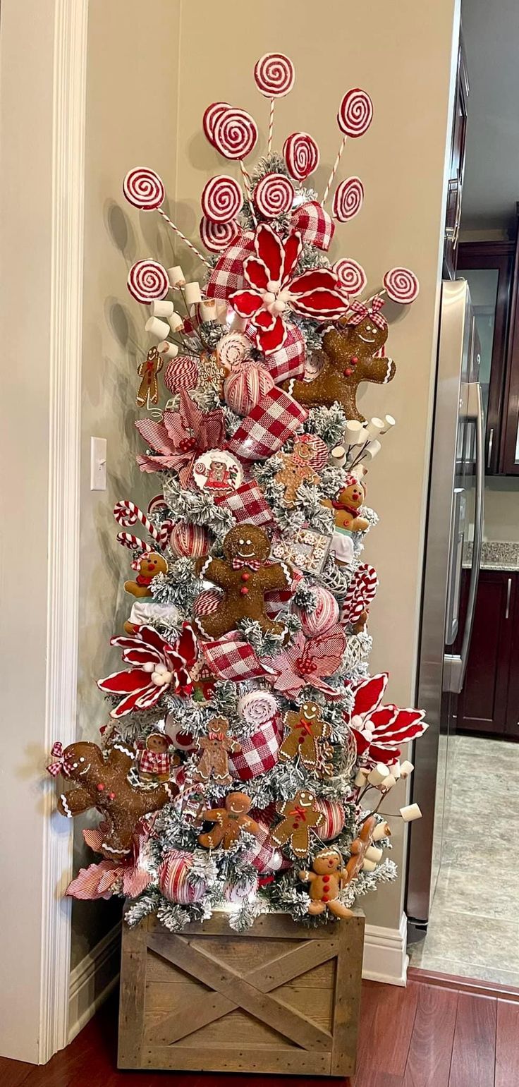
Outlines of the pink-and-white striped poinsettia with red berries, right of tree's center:
M322 677L337 672L345 646L346 637L339 624L313 638L306 638L300 630L291 645L274 661L269 661L277 673L274 678L275 689L291 697L309 685L324 691L330 699L340 698L340 691L325 683Z

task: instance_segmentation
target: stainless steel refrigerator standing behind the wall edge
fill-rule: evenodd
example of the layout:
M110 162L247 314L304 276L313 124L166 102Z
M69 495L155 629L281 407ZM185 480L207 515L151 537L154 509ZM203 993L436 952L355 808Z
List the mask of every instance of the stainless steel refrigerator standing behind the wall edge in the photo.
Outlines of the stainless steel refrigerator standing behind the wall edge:
M442 861L461 690L472 632L484 500L479 338L465 279L442 284L416 704L429 729L416 745L414 796L422 819L409 834L409 938L422 935ZM466 614L461 569L473 538ZM464 624L463 630L459 628ZM457 652L454 652L454 649Z

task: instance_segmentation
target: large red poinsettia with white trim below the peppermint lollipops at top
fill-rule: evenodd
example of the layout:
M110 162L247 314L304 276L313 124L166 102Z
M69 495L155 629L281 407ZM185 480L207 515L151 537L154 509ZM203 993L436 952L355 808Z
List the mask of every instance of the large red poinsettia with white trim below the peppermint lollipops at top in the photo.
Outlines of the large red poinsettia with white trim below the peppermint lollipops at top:
M347 310L347 295L341 291L331 268L293 274L302 248L298 230L282 240L271 226L262 223L254 235L256 255L243 262L243 275L250 286L229 296L238 315L253 325L256 347L264 354L277 351L284 343L290 310L318 321L340 317Z

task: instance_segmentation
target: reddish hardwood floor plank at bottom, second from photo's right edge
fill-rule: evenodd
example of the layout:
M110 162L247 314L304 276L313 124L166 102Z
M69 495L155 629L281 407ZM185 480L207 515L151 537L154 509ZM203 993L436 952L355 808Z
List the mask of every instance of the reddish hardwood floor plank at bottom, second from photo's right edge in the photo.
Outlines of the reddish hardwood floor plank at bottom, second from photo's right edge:
M496 1017L493 998L459 994L448 1087L494 1087Z

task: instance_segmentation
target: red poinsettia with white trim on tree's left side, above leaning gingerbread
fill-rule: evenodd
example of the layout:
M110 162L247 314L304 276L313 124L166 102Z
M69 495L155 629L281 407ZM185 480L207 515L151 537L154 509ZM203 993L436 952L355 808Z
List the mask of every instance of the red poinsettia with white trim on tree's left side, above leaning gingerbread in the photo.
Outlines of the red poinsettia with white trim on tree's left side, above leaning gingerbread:
M111 717L124 717L132 710L150 710L165 690L187 697L193 691L189 674L198 657L197 639L189 623L174 646L151 626L141 626L135 635L111 638L111 646L121 646L129 671L113 672L98 679L98 687L109 695L124 698L111 710Z

